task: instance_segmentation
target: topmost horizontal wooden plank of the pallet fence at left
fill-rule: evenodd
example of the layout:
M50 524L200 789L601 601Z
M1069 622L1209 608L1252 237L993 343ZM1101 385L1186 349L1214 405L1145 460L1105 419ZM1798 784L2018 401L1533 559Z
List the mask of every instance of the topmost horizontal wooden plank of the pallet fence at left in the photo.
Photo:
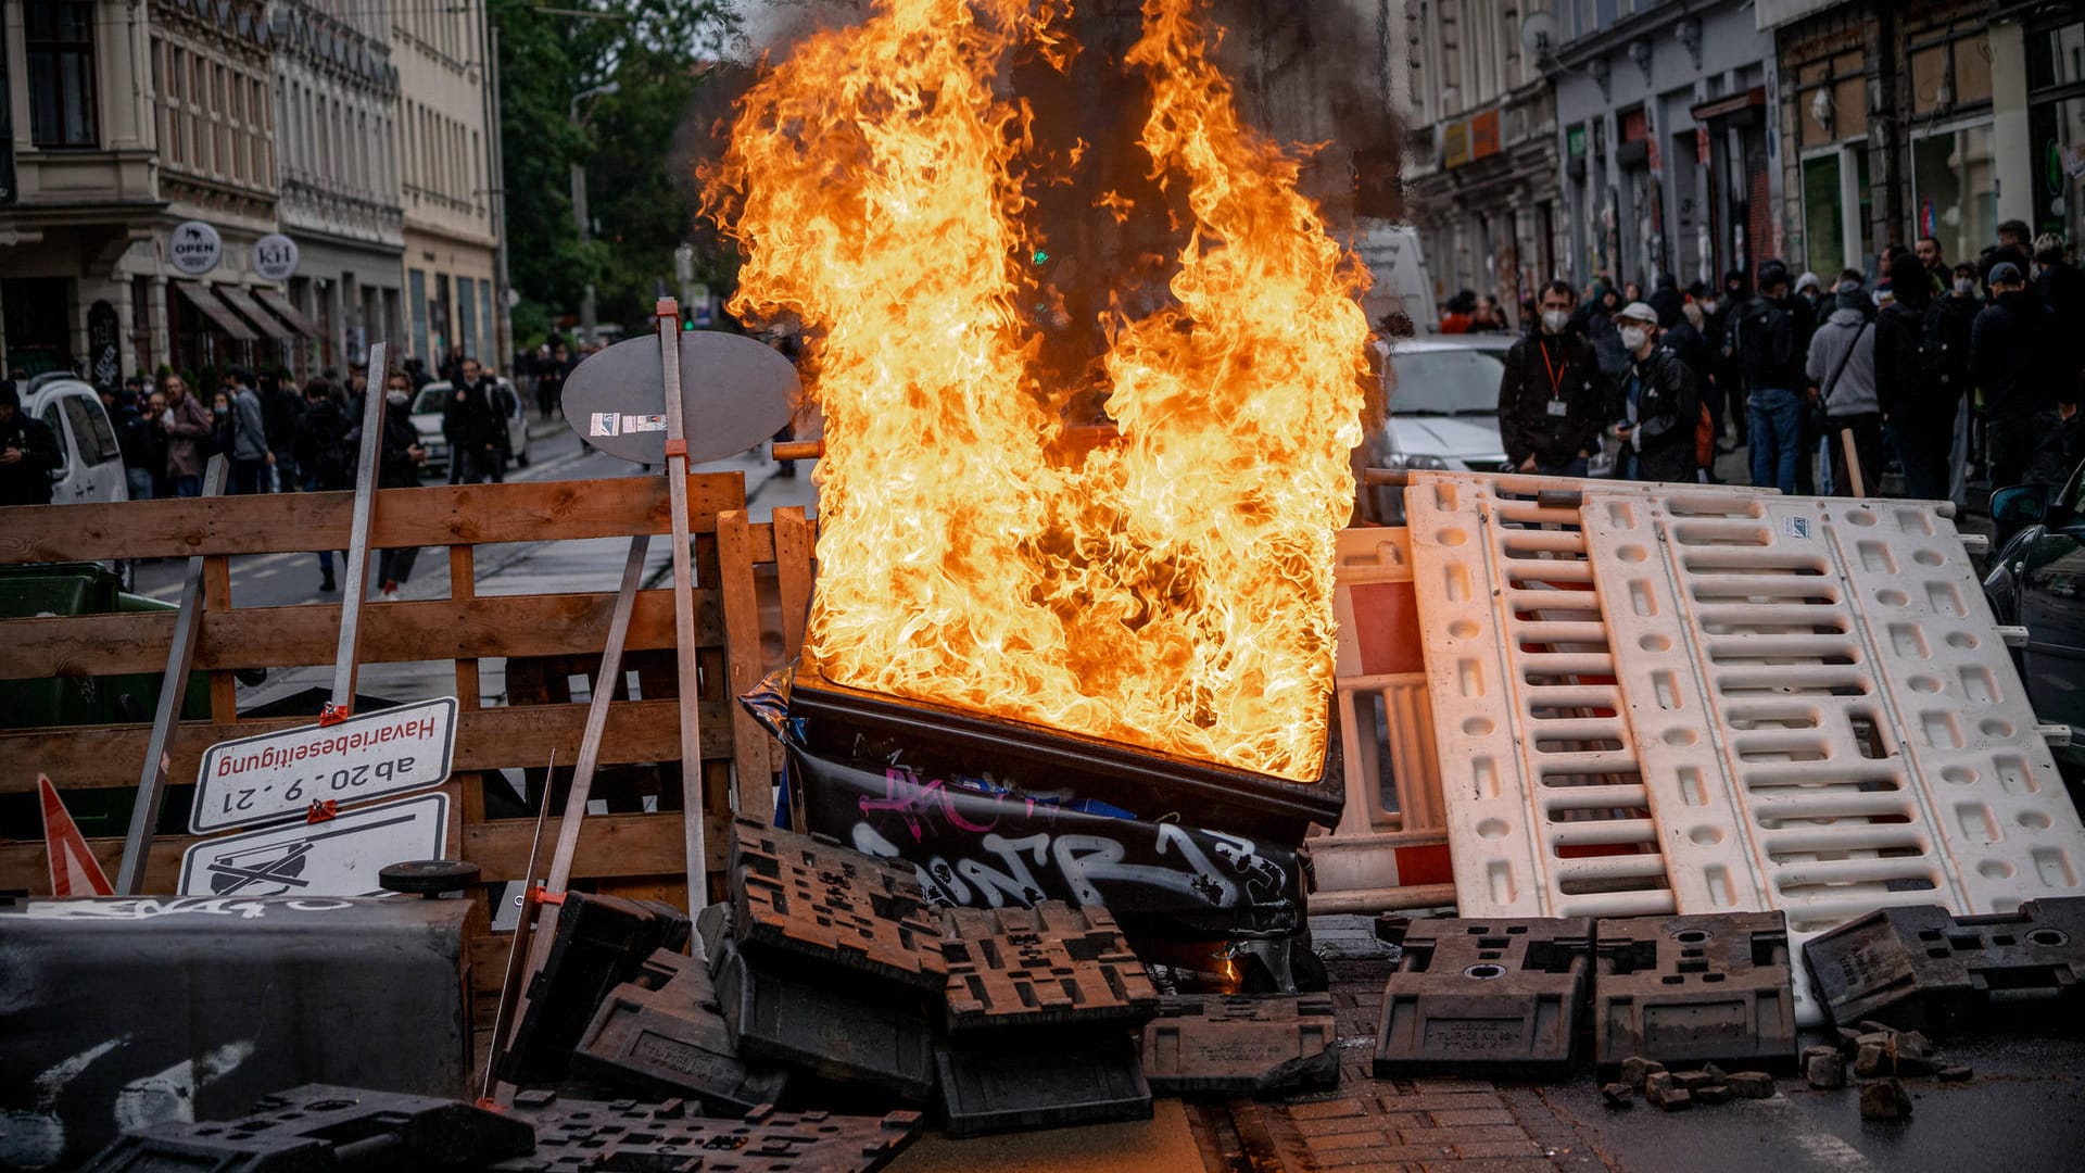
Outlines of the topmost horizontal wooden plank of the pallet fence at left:
M744 493L738 472L688 476L688 528L715 528ZM352 493L15 505L0 509L0 566L344 549L352 505ZM667 513L663 476L386 488L371 545L626 538L667 532ZM774 557L769 526L759 528L755 555Z

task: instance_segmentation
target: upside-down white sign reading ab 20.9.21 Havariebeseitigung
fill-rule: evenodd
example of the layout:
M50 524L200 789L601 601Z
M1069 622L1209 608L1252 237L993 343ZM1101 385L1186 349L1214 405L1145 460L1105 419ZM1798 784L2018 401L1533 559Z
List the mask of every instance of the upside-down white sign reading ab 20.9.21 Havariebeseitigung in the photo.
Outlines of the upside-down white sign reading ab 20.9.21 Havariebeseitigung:
M188 829L206 835L256 827L302 818L313 801L350 804L434 787L448 781L455 747L457 697L221 741L202 756Z

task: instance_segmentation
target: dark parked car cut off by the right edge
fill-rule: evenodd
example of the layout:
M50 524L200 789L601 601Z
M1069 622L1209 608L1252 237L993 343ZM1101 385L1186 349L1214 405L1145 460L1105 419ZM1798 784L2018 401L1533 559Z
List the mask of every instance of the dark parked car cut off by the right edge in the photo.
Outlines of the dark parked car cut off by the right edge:
M2085 463L2062 488L2000 488L1991 520L2020 530L1991 557L1983 597L2000 624L2027 628L2012 657L2035 718L2070 726L2056 762L2075 787L2085 779Z

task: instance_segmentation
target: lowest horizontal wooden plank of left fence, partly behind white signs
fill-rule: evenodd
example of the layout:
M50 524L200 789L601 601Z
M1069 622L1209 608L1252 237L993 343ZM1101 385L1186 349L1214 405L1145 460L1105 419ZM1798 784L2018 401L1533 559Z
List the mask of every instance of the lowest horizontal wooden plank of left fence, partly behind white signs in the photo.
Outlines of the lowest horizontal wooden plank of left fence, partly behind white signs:
M709 816L707 824L709 866L721 868L726 843L730 843L730 820ZM486 881L521 879L528 864L530 835L536 833L534 818L496 818L480 827L467 827L463 835L463 858L484 868ZM544 829L548 835L550 829ZM161 835L152 839L152 856L144 870L146 895L167 895L173 891L181 870L181 852L198 843L198 835ZM123 839L88 839L88 852L102 862L102 870L115 870L123 858ZM682 827L678 812L669 814L607 814L586 820L586 839L571 862L573 879L628 879L667 877L682 870ZM0 887L27 889L29 895L50 895L50 866L44 858L42 841L0 843Z

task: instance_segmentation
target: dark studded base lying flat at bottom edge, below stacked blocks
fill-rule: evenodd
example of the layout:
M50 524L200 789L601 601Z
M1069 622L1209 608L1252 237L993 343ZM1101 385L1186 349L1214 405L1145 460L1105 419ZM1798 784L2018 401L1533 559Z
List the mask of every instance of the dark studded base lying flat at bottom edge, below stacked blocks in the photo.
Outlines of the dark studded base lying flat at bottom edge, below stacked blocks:
M703 1119L680 1100L561 1100L555 1092L515 1096L513 1115L536 1129L536 1152L492 1165L496 1173L874 1173L919 1135L919 1112L759 1108Z

